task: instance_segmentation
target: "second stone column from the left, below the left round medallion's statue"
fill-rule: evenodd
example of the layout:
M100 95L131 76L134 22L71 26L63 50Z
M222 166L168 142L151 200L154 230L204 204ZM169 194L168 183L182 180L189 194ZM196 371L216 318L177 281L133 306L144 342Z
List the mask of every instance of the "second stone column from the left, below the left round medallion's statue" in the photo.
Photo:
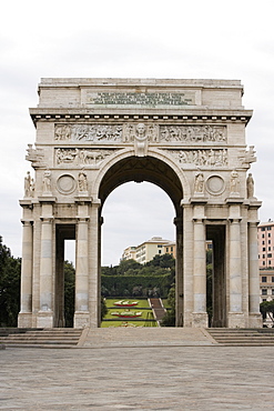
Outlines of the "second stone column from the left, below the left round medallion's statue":
M41 218L41 258L40 258L40 311L38 328L53 327L53 261L52 261L52 218Z

